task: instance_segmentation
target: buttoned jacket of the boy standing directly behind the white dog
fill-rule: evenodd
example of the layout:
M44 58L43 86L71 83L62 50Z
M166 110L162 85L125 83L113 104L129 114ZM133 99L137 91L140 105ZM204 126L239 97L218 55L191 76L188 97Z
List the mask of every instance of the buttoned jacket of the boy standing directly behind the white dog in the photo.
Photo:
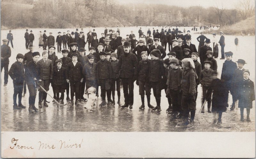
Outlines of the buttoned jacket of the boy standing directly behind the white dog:
M87 81L95 81L96 80L96 63L90 64L89 62L84 65L83 75L85 80Z

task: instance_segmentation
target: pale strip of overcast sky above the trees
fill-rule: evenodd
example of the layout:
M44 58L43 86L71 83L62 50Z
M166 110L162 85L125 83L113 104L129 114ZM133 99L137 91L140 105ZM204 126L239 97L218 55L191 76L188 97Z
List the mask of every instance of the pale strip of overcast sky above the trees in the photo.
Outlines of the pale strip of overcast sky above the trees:
M212 6L221 6L226 9L234 9L239 5L240 0L116 0L121 4L129 3L142 3L142 4L166 4L166 5L176 5L180 7L190 7L190 6L202 6L204 8ZM254 0L251 0L254 3Z

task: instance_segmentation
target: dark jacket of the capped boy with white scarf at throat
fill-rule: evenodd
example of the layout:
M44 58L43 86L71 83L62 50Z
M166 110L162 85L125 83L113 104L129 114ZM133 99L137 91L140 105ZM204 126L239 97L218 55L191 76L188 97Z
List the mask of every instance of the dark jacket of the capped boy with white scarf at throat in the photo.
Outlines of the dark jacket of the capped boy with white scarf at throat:
M74 81L81 81L83 77L83 66L81 62L76 62L74 66L73 62L71 61L68 63L68 67L66 68L66 78L69 79L70 82Z

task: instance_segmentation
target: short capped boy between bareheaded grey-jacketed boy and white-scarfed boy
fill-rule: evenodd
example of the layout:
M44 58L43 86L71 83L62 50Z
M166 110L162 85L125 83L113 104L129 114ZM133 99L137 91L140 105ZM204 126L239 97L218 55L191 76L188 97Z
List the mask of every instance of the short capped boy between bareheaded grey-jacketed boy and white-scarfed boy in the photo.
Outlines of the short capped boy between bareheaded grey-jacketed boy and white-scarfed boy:
M64 104L64 92L66 90L66 68L62 67L62 60L55 61L56 66L53 67L53 85L56 93L56 100L60 104ZM61 96L60 96L61 93Z

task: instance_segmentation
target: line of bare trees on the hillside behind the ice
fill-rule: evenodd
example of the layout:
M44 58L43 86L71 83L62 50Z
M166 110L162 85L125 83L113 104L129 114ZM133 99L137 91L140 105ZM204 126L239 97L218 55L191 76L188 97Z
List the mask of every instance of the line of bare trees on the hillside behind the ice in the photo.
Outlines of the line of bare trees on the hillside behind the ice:
M224 6L117 4L115 0L2 0L1 25L15 28L232 25L254 15L251 0Z

